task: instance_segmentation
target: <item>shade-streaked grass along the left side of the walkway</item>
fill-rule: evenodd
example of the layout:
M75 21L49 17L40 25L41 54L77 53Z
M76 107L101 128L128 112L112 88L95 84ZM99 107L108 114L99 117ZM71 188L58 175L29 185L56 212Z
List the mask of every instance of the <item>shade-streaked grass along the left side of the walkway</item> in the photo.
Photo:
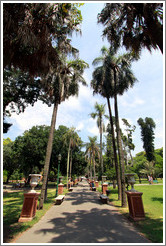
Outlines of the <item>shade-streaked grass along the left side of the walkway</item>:
M54 203L55 188L48 189L47 201L44 203L42 210L36 211L36 216L32 221L18 223L18 219L21 214L24 192L4 192L3 196L3 232L4 232L4 243L10 243L19 233L27 230L37 223L41 217L47 212ZM64 189L64 194L68 191Z

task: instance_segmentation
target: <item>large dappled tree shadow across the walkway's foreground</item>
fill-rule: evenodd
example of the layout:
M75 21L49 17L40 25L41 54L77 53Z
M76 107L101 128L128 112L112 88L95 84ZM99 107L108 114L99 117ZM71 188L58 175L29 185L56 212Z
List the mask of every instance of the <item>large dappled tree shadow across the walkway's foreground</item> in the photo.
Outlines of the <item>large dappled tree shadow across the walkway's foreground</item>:
M35 233L40 237L53 234L48 243L148 243L119 213L109 209L65 212L62 217L50 219L45 228Z

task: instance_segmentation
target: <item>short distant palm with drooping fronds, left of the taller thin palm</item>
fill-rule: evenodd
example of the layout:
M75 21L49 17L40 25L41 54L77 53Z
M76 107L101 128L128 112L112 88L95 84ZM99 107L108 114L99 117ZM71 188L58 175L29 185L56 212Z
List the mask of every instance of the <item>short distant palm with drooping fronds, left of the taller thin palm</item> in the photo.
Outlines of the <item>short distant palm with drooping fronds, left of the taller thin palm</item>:
M89 138L89 143L86 144L86 151L85 151L85 156L88 156L88 159L90 161L90 173L91 173L91 178L92 178L92 164L93 164L93 176L96 176L96 161L95 158L98 156L100 157L100 149L96 143L97 137L88 137Z

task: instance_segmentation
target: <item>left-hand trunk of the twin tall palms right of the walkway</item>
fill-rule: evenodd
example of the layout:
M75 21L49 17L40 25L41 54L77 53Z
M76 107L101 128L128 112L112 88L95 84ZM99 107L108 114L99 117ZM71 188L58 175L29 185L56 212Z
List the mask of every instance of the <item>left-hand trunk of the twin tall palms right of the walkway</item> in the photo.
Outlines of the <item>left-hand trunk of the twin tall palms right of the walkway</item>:
M117 154L116 154L114 124L113 124L113 119L112 119L111 105L110 105L110 101L108 97L107 97L107 103L108 103L108 110L109 110L109 115L110 115L112 143L113 143L113 151L114 151L114 159L115 159L115 169L116 169L116 177L117 177L117 184L118 184L118 200L120 200L121 199L120 170L119 170L118 159L117 159Z

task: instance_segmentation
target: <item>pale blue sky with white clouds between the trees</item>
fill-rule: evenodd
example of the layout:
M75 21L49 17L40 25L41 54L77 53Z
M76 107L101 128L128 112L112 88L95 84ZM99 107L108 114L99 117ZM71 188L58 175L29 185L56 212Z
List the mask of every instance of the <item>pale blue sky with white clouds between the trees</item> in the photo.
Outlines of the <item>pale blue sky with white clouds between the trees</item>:
M80 58L89 63L90 68L86 69L84 77L88 84L92 79L94 67L92 61L100 55L103 45L109 47L107 40L102 39L103 26L97 24L97 14L102 10L104 3L86 3L81 7L83 15L82 36L73 35L72 44L80 50ZM132 65L133 72L138 82L123 96L118 97L120 123L122 118L126 118L130 124L136 126L133 134L135 150L133 155L143 150L140 127L137 120L142 117L151 117L156 123L155 148L163 146L164 141L164 85L163 85L163 56L160 50L149 53L143 50L139 61ZM88 141L88 136L98 136L99 131L96 121L91 119L89 114L94 111L94 104L106 104L106 100L101 96L93 96L90 86L80 85L79 96L71 97L63 102L58 108L56 129L59 125L68 127L74 126L84 142ZM113 108L113 101L112 101ZM113 108L114 109L114 108ZM106 112L108 114L107 105ZM20 115L13 114L10 122L13 126L4 138L14 140L18 135L22 135L25 130L34 125L50 125L52 107L37 102L34 107L29 106ZM105 122L106 124L108 121ZM122 129L124 126L121 124Z

